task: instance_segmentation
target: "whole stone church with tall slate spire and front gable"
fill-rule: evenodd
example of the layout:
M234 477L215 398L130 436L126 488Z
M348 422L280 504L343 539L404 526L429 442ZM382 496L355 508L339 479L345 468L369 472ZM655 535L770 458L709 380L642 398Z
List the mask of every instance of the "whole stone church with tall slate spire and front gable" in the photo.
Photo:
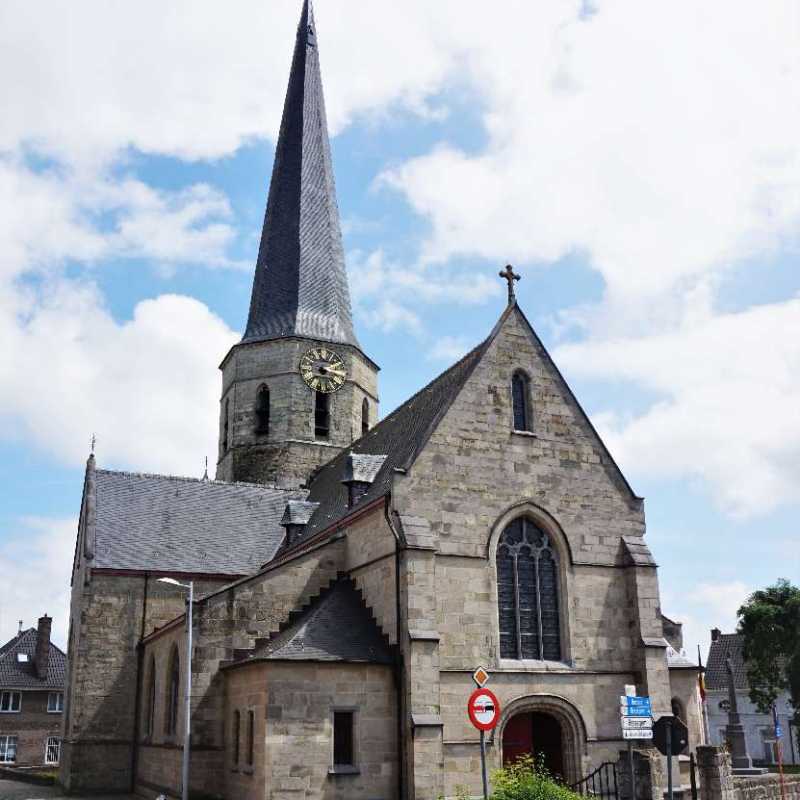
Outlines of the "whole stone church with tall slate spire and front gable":
M615 760L632 683L697 739L643 501L506 277L486 338L380 420L306 0L247 329L221 364L216 480L86 467L66 788L180 792L186 592L163 577L195 589L198 796L477 795L479 665L502 706L492 766L536 753L575 782Z

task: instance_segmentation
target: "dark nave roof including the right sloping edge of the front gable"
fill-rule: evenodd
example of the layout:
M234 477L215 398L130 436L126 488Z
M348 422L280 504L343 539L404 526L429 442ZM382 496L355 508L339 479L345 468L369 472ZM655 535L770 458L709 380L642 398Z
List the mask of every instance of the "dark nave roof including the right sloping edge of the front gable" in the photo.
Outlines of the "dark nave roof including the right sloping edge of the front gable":
M381 420L349 448L320 467L309 483L309 495L307 498L310 502L319 503L319 507L306 527L298 546L303 540L307 540L315 533L344 519L344 517L356 511L358 507L363 507L390 491L392 476L395 471L407 470L413 465L431 434L443 419L459 392L466 385L509 316L513 313L518 313L527 326L531 336L547 359L548 365L561 383L565 396L574 402L578 417L585 422L592 435L596 438L598 447L604 451L608 468L614 479L619 483L621 490L631 502L635 504L641 503L641 498L631 489L630 484L628 484L622 471L608 452L588 415L575 398L525 314L516 303L512 303L500 316L487 339L395 409L388 417ZM386 456L386 460L383 462L368 491L352 509L347 506L347 488L342 484L347 458L350 454ZM294 549L294 546L292 549Z

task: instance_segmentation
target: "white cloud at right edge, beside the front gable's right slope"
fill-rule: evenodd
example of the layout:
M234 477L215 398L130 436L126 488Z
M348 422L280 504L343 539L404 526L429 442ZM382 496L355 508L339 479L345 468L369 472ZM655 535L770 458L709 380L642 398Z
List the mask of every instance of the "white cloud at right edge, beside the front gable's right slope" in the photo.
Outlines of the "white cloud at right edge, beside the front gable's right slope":
M797 503L800 483L800 298L709 313L650 336L564 345L572 375L655 393L643 413L596 421L632 473L686 475L710 486L727 514Z

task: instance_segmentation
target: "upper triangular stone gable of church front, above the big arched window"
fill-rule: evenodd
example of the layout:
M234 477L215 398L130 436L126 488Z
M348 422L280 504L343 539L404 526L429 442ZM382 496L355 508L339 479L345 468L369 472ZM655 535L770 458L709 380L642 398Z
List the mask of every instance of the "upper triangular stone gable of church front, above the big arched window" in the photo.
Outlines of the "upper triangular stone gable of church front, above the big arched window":
M523 502L564 529L576 562L591 551L615 563L620 537L644 530L641 498L512 304L396 483L395 505L427 520L443 552L486 555L492 526Z

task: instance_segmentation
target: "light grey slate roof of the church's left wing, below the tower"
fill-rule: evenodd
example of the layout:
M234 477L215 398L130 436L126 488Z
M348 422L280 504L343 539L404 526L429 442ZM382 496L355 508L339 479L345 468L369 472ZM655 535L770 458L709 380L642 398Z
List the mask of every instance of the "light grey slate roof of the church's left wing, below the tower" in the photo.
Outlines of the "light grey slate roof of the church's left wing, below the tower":
M91 466L90 466L91 469ZM244 575L275 554L289 491L97 470L95 568Z

